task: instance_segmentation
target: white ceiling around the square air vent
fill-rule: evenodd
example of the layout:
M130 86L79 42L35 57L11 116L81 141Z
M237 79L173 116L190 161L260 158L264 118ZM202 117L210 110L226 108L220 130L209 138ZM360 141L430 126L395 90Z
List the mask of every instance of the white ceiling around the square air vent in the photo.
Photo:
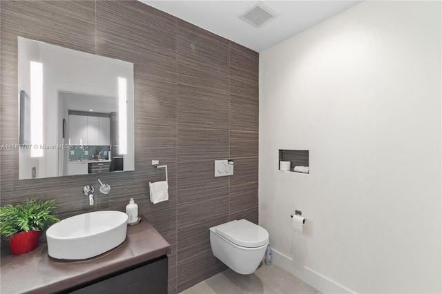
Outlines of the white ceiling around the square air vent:
M260 1L278 17L256 28L238 16L258 1L151 1L139 0L195 26L260 52L302 32L361 0Z

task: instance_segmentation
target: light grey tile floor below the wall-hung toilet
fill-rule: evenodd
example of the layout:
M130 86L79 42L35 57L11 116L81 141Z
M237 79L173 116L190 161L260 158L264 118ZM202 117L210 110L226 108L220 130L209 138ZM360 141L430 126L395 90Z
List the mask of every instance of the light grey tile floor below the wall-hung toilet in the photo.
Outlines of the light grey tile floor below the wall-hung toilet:
M252 275L240 275L230 268L209 277L180 294L246 294L287 293L320 294L318 290L302 282L294 275L272 264L262 264Z

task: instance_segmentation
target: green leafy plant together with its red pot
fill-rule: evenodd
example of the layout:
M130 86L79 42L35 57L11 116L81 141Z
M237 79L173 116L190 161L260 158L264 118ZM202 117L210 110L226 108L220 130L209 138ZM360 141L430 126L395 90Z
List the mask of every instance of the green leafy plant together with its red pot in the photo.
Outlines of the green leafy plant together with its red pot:
M55 200L26 199L1 207L0 233L8 239L11 253L26 253L37 247L40 231L60 221L56 213Z

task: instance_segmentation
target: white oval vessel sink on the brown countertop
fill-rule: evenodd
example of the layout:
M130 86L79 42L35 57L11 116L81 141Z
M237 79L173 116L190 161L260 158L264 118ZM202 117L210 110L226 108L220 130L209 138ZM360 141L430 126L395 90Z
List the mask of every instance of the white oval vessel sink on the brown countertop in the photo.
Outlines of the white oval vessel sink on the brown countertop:
M110 251L126 239L127 218L121 211L102 210L63 219L46 231L48 254L77 260Z

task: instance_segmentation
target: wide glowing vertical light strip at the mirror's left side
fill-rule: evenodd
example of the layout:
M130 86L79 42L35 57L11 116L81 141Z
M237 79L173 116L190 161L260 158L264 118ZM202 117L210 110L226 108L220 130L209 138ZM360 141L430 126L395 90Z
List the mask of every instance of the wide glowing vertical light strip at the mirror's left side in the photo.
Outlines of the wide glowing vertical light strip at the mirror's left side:
M43 63L30 61L31 157L43 157Z

